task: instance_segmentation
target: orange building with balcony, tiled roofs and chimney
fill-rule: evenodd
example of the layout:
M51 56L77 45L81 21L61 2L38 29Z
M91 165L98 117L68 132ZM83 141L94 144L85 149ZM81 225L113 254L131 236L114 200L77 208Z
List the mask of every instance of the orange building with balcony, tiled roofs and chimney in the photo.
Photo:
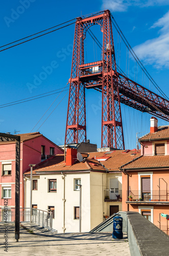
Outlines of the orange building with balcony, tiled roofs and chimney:
M122 165L124 211L138 211L168 233L169 215L169 126L150 119L150 133L139 139L141 156Z

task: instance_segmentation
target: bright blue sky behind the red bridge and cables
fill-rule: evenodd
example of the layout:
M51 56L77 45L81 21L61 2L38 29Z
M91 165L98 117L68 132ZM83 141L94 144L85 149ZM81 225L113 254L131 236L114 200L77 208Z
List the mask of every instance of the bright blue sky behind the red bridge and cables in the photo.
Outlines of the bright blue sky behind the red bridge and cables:
M111 11L143 65L169 97L168 1L99 0L61 2L54 0L2 0L0 3L0 45L3 46L22 37L64 23L67 20L104 9ZM75 25L71 25L0 52L1 105L66 86L70 77L74 31ZM101 39L102 33L97 26L93 26L92 31ZM117 36L114 28L113 35L116 47ZM99 60L99 50L96 51L93 41L88 36L86 36L86 47L87 60L91 56ZM122 58L121 65L125 67L123 61ZM132 65L134 64L130 65L129 71L132 71ZM141 77L141 73L139 75ZM151 86L150 89L158 93ZM34 101L1 108L0 131L2 133L11 132L12 134L16 131L20 131L20 133L31 132L35 124L59 95L33 132L38 130L55 143L63 144L68 102L68 94L65 96L66 93L67 91L60 95L54 94ZM63 97L64 99L62 99ZM60 101L61 103L57 106ZM55 111L39 128L54 109ZM126 148L136 147L136 133L140 133L141 136L149 132L150 117L149 114L142 114L122 105ZM100 147L101 94L99 92L92 90L86 92L86 119L87 139L90 139L91 143L97 143ZM167 122L159 119L159 125L166 124Z

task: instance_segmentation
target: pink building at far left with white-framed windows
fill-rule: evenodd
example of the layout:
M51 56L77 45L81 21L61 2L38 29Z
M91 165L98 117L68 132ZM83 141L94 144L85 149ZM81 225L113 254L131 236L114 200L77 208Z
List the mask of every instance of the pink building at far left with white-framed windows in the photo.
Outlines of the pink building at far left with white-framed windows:
M20 136L20 207L24 207L23 173L29 164L40 164L46 158L63 154L63 150L39 132L18 134ZM15 207L15 142L0 142L0 207L8 200Z

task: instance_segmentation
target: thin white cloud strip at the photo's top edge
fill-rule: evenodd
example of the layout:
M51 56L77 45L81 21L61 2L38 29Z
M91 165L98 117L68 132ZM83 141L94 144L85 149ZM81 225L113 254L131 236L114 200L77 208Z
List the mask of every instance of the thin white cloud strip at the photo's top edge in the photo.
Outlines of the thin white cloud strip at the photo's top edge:
M113 12L125 12L130 6L149 7L149 6L169 5L168 0L103 0L103 9Z

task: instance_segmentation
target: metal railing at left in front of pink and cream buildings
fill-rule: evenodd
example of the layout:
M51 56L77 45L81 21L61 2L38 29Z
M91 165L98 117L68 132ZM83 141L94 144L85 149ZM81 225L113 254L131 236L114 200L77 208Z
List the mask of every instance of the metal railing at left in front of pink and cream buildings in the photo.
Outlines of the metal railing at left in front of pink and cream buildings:
M0 209L0 222L15 222L15 208L8 207ZM20 208L20 222L30 222L30 208ZM53 213L52 211L45 211L32 208L32 220L46 229L52 230Z

